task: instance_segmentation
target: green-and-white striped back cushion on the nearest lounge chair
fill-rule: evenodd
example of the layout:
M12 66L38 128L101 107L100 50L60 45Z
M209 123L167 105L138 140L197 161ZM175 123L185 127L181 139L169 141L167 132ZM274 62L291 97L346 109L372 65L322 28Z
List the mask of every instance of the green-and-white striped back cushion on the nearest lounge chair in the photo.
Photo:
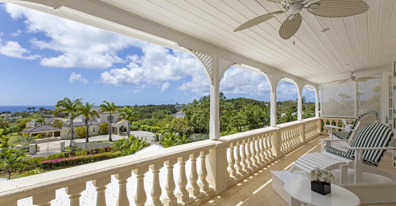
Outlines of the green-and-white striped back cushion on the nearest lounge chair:
M393 139L393 132L383 124L369 124L362 127L356 134L351 147L387 147ZM378 165L386 150L364 150L363 158ZM349 149L348 154L355 154Z

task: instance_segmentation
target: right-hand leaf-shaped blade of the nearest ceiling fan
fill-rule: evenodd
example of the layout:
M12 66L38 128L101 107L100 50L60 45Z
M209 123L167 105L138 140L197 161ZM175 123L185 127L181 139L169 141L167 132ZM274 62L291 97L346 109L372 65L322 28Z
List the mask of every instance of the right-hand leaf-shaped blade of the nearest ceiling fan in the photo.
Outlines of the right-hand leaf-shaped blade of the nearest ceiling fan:
M321 0L317 9L308 9L314 15L320 17L348 17L364 13L369 6L362 0Z

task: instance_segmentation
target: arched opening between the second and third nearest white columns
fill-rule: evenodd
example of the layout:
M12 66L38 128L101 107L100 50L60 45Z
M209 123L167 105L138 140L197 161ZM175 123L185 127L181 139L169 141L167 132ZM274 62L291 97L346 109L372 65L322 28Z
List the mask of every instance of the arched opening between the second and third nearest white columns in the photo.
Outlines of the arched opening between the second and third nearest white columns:
M297 120L298 90L295 82L282 79L276 87L276 116L277 124Z

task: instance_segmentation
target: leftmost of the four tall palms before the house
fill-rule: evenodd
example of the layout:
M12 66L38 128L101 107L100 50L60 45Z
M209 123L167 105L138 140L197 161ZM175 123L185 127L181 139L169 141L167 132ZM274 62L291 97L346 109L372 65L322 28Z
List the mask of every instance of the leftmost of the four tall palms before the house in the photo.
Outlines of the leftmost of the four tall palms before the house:
M65 97L62 100L59 100L55 105L55 110L53 110L53 114L56 116L59 113L69 113L70 118L70 146L72 146L73 141L73 119L75 117L75 113L80 110L82 107L82 99L69 99Z

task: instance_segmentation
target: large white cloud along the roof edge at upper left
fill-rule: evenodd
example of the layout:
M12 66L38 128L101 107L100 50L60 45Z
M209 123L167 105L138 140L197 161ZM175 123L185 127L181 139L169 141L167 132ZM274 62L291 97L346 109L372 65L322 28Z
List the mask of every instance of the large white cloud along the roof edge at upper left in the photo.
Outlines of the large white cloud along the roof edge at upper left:
M42 58L42 66L108 68L124 62L117 52L141 44L127 36L14 4L6 4L5 9L14 19L26 18L27 32L42 32L49 38L31 39L34 47L61 53Z

